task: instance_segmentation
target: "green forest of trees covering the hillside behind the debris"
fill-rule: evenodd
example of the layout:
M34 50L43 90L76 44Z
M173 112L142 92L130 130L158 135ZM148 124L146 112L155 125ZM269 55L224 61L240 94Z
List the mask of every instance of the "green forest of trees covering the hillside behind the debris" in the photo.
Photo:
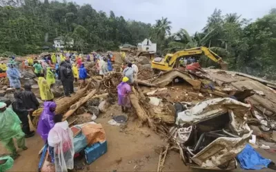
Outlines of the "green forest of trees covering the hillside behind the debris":
M276 8L256 21L215 9L206 17L205 27L193 35L185 28L171 33L166 17L151 25L66 1L4 0L0 18L2 55L42 52L58 36L64 42L74 39L72 49L81 52L118 50L121 44L137 45L150 38L159 54L206 46L229 63L229 69L276 79ZM215 65L207 58L203 61L206 66Z

